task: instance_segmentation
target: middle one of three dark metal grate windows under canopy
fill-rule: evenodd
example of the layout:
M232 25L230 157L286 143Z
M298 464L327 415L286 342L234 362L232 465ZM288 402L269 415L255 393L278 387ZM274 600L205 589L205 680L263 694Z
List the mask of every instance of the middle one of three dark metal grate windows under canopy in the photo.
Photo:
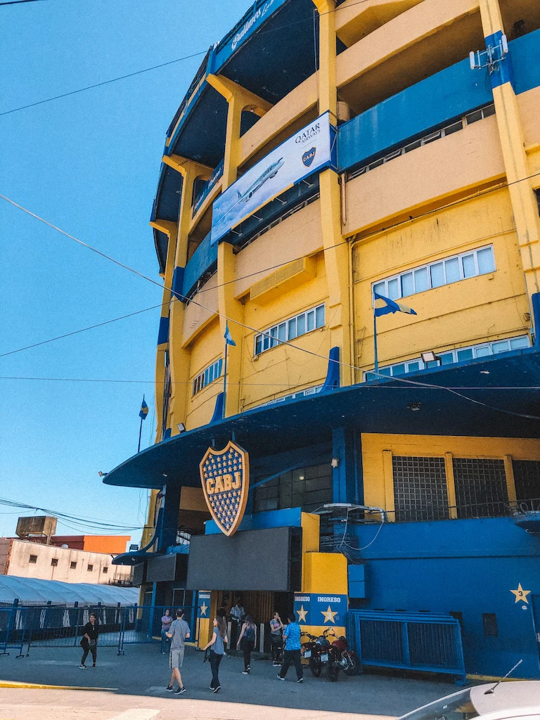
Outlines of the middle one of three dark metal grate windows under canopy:
M496 518L508 514L503 460L454 460L458 518Z

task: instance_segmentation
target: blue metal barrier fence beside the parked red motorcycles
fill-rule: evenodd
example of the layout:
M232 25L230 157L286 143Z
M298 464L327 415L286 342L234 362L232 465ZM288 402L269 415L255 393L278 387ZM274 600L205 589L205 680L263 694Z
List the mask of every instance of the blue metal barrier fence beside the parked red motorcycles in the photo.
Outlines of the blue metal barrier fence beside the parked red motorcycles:
M362 665L444 672L465 682L459 621L433 613L351 610L348 636Z

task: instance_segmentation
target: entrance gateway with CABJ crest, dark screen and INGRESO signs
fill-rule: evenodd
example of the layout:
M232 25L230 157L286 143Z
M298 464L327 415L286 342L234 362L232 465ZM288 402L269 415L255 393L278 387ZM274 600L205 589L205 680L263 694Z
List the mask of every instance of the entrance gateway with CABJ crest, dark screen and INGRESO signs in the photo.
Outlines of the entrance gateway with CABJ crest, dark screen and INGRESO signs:
M232 440L221 450L207 449L199 464L212 520L204 535L192 536L187 588L199 590L201 642L217 611L230 616L237 601L259 625L268 624L274 611L284 622L294 612L310 634L327 628L344 634L346 558L320 552L318 515L292 508L244 518L249 467L248 451Z

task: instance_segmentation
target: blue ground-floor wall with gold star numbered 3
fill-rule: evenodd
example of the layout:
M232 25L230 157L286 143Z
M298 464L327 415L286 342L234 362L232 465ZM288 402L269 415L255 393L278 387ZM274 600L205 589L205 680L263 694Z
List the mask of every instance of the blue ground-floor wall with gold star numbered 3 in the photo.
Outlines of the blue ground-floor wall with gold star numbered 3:
M360 546L372 541L377 529L355 528ZM512 518L388 523L362 555L367 599L356 606L461 612L469 674L505 675L523 658L516 676L540 678L533 617L535 600L540 603L540 538L516 527ZM510 593L519 582L531 590L528 604L516 603ZM485 636L482 613L496 614L498 636ZM540 617L539 608L536 613Z

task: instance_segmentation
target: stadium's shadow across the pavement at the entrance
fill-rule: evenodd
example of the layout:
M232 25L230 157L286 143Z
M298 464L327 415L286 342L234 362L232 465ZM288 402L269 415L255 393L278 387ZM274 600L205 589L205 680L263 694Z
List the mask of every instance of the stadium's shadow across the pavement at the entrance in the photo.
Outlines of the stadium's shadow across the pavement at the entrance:
M155 645L127 646L122 656L114 648L100 648L97 667L87 670L78 667L81 662L78 648L32 648L29 657L15 655L0 656L0 680L109 688L109 692L122 695L171 698L176 702L191 698L395 717L458 689L447 678L427 680L368 674L348 678L341 673L338 682L331 683L325 672L321 678L313 678L307 667L304 683L299 685L293 667L287 680L280 682L276 678L279 668L273 667L270 660L253 660L251 675L242 675L241 659L225 656L220 667L222 690L212 695L210 665L203 663L202 652L188 647L181 670L187 692L177 698L165 692L171 678L168 655L160 654Z

